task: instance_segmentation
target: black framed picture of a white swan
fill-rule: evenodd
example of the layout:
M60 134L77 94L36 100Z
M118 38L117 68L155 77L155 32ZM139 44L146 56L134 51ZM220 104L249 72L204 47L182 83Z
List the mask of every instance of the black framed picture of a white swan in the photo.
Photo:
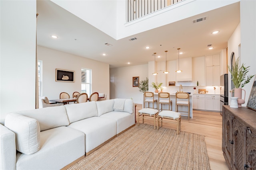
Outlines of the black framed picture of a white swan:
M75 72L56 68L56 82L75 82Z

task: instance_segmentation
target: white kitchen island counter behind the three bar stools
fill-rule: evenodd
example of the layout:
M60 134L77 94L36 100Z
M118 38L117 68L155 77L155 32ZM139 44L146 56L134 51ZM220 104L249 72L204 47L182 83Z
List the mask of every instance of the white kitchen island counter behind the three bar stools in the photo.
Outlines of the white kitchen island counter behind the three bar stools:
M193 109L192 109L192 96L193 94L189 95L189 102L190 102L190 117L193 118ZM158 93L154 93L154 98L158 100ZM144 93L142 94L142 108L144 108ZM170 93L170 100L172 100L172 111L176 111L176 94ZM180 99L182 100L182 99ZM147 104L146 104L147 106ZM154 104L154 107L156 106L156 103ZM168 105L163 105L163 109L168 109ZM180 111L188 111L188 107L179 106Z

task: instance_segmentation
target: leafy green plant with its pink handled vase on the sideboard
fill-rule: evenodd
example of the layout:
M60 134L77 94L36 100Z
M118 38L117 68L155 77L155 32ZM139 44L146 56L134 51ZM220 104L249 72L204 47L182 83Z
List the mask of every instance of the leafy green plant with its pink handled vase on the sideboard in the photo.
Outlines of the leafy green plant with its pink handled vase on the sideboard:
M255 75L247 75L249 72L249 67L244 66L244 63L239 67L239 58L236 60L234 65L232 65L232 68L228 66L228 70L232 75L232 82L235 86L232 91L234 91L234 97L237 97L238 100L238 107L241 107L241 104L244 104L245 101L242 99L242 87L244 87L245 84L250 82L250 80L255 76ZM247 75L247 77L246 77ZM244 90L244 99L245 99L245 90Z

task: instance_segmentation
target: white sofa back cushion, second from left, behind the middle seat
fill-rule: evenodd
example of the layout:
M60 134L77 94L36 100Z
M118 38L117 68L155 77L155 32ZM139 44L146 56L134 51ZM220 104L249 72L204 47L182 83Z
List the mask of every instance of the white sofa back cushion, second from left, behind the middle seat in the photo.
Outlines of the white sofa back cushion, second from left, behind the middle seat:
M85 102L78 104L66 104L69 122L75 122L93 116L98 116L96 102Z

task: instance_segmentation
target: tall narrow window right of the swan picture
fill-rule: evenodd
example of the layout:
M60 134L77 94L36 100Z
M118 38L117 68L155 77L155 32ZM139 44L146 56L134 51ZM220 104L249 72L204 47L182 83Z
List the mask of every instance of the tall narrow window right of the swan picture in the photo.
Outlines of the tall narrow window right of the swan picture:
M87 68L81 69L81 90L82 93L91 95L92 70Z

